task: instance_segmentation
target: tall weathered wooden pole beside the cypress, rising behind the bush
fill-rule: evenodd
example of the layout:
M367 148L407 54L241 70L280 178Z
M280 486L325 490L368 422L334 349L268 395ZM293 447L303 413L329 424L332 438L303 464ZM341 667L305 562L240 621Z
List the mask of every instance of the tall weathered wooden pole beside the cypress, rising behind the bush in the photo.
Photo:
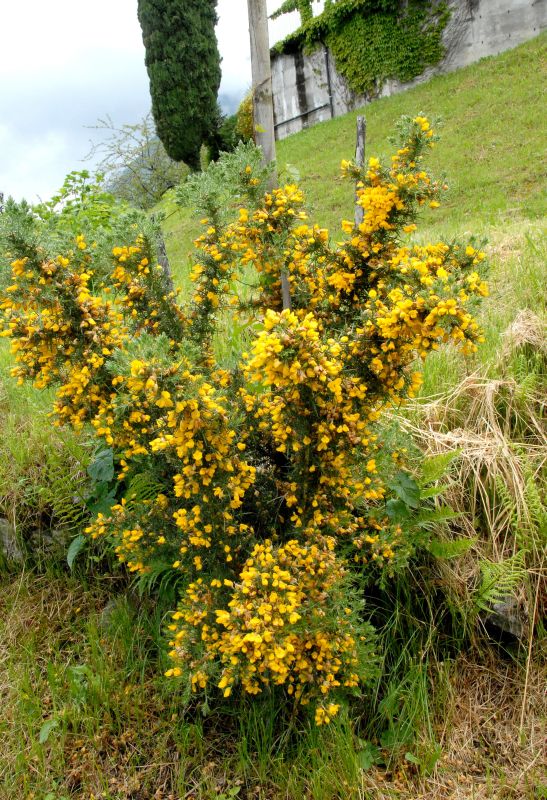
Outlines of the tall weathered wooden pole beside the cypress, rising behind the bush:
M251 41L251 70L253 76L253 116L255 142L262 150L264 164L274 164L269 189L277 186L275 168L275 131L273 119L272 70L268 35L266 0L247 0L249 37ZM291 307L291 291L286 270L281 270L283 308Z

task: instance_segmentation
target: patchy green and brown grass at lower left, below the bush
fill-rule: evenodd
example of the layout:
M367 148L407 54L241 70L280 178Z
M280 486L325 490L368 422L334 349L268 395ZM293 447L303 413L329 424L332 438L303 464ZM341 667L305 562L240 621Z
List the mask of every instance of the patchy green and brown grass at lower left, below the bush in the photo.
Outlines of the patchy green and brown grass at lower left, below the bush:
M238 787L242 797L357 799L343 717L286 730L273 695L181 714L162 677L166 607L112 579L50 570L0 581L2 800L218 800Z

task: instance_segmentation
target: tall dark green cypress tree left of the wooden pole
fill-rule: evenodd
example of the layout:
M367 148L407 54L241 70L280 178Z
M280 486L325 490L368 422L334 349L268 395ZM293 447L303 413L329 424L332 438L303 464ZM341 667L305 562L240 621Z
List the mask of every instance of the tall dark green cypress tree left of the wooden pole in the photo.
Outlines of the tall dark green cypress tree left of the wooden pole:
M218 123L217 0L138 0L152 114L168 155L199 164Z

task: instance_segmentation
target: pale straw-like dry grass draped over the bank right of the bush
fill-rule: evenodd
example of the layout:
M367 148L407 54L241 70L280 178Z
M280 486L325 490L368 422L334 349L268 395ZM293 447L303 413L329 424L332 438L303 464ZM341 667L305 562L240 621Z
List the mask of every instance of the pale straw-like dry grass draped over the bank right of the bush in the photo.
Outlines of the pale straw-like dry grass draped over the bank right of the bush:
M526 479L530 469L536 477L541 474L547 457L543 405L534 391L523 395L513 378L473 374L449 394L416 404L415 413L403 422L427 455L459 451L454 488L447 498L456 510L466 512L462 524L470 535L480 516L493 555L512 549L507 537L513 522L531 523ZM496 497L500 482L513 508Z

